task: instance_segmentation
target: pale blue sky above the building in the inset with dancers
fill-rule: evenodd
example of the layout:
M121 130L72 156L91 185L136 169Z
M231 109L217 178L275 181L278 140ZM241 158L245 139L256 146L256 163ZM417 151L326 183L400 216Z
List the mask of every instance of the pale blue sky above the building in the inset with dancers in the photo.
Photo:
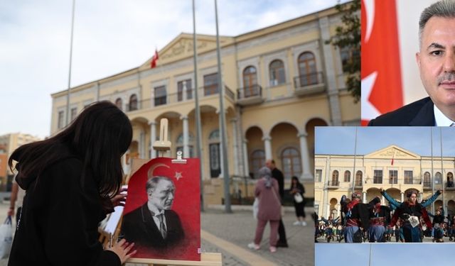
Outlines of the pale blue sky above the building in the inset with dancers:
M455 128L452 127L358 127L358 155L365 155L389 145L397 145L418 155L455 156ZM431 133L432 131L432 133ZM433 141L432 141L432 138ZM355 127L317 127L316 154L353 155Z

